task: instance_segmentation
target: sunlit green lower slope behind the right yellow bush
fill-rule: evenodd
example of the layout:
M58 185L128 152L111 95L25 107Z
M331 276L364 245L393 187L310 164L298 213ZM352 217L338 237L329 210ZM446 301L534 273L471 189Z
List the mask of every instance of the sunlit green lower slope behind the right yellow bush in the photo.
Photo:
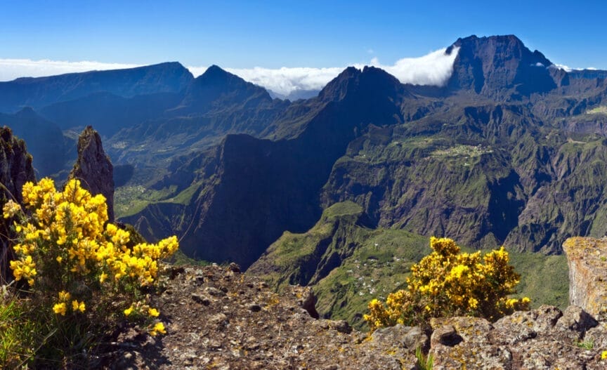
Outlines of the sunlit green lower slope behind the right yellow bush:
M430 251L427 237L368 227L362 207L345 201L329 206L308 232L282 234L247 273L265 277L277 291L289 284L312 286L321 316L346 319L362 329L369 300L385 299L404 288L411 265ZM521 274L520 296L533 298L534 307L566 307L565 256L516 251L510 255Z

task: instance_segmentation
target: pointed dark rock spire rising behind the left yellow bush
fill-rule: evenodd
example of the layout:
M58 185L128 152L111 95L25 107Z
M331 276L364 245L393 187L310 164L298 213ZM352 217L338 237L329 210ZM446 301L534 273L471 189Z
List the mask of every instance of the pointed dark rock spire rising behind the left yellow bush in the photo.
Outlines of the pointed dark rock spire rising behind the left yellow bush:
M97 131L87 126L78 138L78 159L68 178L77 178L91 194L103 194L107 201L107 217L114 220L114 168L105 155Z

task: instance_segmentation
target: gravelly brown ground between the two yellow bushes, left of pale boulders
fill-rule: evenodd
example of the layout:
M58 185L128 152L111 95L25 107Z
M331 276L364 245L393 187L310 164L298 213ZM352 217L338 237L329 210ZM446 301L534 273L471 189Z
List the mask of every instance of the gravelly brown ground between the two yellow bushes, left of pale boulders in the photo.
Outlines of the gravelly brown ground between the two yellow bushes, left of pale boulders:
M367 338L347 322L314 319L300 305L301 289L279 296L232 267L172 267L170 275L154 298L167 335L126 331L100 368L415 369L415 345L427 341L410 328Z

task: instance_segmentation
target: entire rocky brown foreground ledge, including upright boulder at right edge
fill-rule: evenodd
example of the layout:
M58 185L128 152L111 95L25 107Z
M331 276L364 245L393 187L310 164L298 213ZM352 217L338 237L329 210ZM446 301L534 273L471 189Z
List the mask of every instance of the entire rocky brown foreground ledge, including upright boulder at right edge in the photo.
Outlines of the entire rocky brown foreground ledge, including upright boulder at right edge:
M592 253L575 253L590 247ZM607 241L570 239L566 251L570 265L581 257L604 264L597 274L607 267ZM576 305L562 312L544 305L494 323L433 319L427 328L368 335L343 321L315 319L309 289L278 295L235 265L171 267L169 275L155 298L167 335L122 333L106 369L417 369L418 347L433 357L434 370L607 368L607 322ZM572 277L571 290L580 296L580 289L601 289L587 284L594 278Z

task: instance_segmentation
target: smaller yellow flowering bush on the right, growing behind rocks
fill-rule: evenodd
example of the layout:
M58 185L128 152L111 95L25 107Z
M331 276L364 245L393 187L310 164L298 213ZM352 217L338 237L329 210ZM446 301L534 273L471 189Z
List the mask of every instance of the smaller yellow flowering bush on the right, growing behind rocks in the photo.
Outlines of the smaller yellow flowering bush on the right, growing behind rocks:
M411 267L407 289L389 294L386 303L374 299L364 315L373 331L381 326L420 324L430 317L457 315L498 319L514 310L528 310L529 298L516 293L520 275L509 265L502 247L481 257L481 252L460 253L452 239L431 237L429 256Z

